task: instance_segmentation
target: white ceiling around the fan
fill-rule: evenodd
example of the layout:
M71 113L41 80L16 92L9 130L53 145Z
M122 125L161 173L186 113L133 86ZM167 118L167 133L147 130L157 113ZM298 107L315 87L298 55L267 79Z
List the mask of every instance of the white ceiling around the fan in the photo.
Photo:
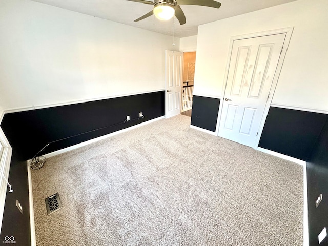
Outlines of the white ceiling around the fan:
M152 16L133 22L152 10L153 6L127 0L33 0L35 2L56 6L103 19L112 20L133 27L146 29L167 35L173 35L173 20L162 22ZM201 1L201 0L199 0ZM188 37L197 35L198 26L215 20L249 13L259 9L292 2L295 0L218 0L222 5L219 9L181 5L186 15L186 24L180 26L175 18L175 36ZM177 0L179 3L179 0Z

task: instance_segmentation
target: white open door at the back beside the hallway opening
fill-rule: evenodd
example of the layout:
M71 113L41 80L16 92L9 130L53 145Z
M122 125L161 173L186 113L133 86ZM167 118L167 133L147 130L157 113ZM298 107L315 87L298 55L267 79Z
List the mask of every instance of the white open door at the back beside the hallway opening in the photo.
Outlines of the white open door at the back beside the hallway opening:
M171 50L165 51L166 118L170 118L181 113L182 63L182 52Z

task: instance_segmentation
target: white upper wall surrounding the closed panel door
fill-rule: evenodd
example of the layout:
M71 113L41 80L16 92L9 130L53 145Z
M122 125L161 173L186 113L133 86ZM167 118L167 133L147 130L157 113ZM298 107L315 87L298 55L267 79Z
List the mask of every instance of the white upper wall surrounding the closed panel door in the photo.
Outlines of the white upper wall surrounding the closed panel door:
M194 94L223 96L232 36L295 27L272 103L327 111L327 13L326 0L298 0L199 26Z

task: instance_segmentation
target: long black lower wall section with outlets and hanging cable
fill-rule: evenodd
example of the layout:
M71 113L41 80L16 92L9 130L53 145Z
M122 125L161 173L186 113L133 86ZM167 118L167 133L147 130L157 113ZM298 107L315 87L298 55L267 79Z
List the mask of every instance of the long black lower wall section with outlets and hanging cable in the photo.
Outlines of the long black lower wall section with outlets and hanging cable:
M139 112L145 118L139 117ZM131 120L124 123L126 116ZM79 144L165 115L164 91L90 101L45 109L5 114L1 123L17 158L32 158L48 142L42 154ZM110 126L110 127L108 127ZM102 130L93 131L95 129Z

